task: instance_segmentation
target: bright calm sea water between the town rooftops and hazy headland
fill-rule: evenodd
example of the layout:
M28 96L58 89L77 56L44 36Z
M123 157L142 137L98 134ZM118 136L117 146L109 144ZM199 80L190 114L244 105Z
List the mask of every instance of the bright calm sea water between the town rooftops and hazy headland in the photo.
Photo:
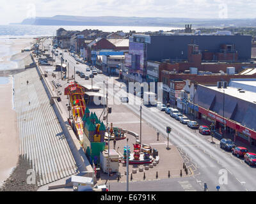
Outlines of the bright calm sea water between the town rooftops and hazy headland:
M170 31L179 27L147 27L147 26L62 26L62 25L0 25L0 38L29 38L37 36L53 36L56 30L63 27L66 30L83 31L84 29L99 29L105 32L115 31Z

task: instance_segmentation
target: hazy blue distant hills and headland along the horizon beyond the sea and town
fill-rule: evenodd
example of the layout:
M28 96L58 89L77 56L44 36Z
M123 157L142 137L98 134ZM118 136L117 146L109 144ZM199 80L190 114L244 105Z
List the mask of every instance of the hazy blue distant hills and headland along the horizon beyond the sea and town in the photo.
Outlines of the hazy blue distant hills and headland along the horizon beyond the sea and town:
M193 24L193 27L256 27L256 18L249 19L198 19L198 18L150 18L150 17L81 17L56 15L54 17L26 18L22 25L128 25L128 26L163 26L184 27Z

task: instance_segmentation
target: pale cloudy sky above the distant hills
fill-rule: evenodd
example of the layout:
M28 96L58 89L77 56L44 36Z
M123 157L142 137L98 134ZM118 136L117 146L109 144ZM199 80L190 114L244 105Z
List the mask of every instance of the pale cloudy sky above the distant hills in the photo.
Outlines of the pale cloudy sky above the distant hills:
M255 0L1 0L0 24L54 15L256 18Z

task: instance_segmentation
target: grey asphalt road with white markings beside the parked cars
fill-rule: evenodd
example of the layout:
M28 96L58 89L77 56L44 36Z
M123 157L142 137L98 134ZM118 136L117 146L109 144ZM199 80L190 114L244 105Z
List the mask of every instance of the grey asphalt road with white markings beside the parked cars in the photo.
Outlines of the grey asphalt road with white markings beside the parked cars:
M86 73L85 64L76 64L75 59L67 52L63 52L64 59L70 64L70 71L74 73L74 66L76 70L84 71ZM103 80L109 79L106 75L97 75L93 78L93 85L95 83L103 83ZM113 78L113 77L111 77ZM80 79L77 77L77 81ZM90 79L91 80L91 79ZM117 82L116 82L117 83ZM115 85L115 91L120 91L119 84ZM121 91L122 92L122 91ZM118 98L117 94L109 91L109 96ZM129 97L133 97L133 94L129 94ZM130 105L125 104L131 112L140 115L140 98L136 97L137 104ZM202 136L198 131L189 129L187 126L180 124L177 120L170 117L164 112L157 110L155 107L148 108L142 105L142 119L148 122L151 126L156 128L161 136L167 138L166 126L172 128L170 134L170 142L176 145L181 152L184 152L184 157L188 160L188 164L194 167L194 175L187 181L193 185L193 189L200 191L204 189L204 183L207 183L209 191L216 191L216 186L220 186L220 191L256 191L256 185L253 180L256 175L256 170L253 167L244 163L243 159L232 156L230 152L220 149L216 144L212 144L208 139L209 136ZM210 137L211 138L211 137ZM142 138L143 142L143 138ZM227 177L225 177L227 175ZM180 179L184 180L184 179ZM153 180L148 183L152 183L154 189L158 191L173 191L173 186L164 186L163 184L168 182L179 182L178 180ZM112 190L118 190L120 188L119 183L112 184ZM125 186L125 184L123 184ZM131 184L133 185L133 184ZM147 185L150 186L150 185ZM179 191L179 187L177 190ZM133 185L134 191L147 191L145 185Z

